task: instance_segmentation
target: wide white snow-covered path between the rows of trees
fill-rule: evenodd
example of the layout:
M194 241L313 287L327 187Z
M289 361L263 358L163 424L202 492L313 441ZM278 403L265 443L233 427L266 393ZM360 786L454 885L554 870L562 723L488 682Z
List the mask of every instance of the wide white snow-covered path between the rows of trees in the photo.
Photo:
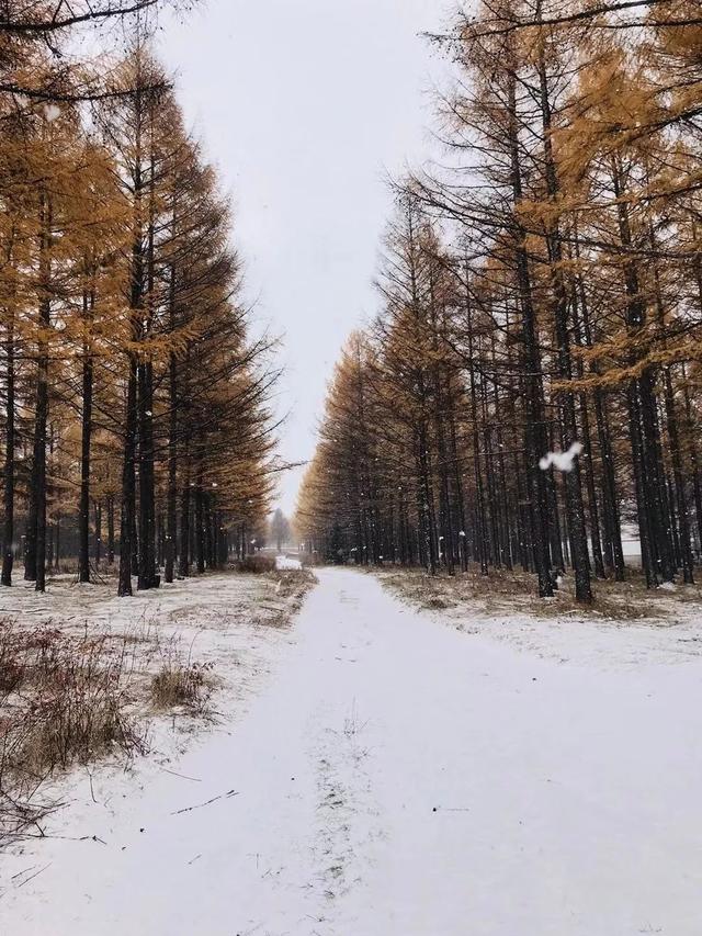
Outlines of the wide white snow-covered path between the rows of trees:
M558 665L319 579L245 721L174 768L192 780L71 827L104 845L12 857L44 870L0 932L699 936L700 662Z

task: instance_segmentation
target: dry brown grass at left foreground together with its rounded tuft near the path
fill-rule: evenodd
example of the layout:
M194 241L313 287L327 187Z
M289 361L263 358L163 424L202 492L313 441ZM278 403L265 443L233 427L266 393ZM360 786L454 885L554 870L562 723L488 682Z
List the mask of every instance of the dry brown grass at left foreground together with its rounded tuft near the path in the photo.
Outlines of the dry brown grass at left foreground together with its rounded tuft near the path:
M156 675L154 666L160 665ZM212 664L181 663L150 627L92 635L0 620L0 844L39 826L49 778L147 751L148 700L204 714Z

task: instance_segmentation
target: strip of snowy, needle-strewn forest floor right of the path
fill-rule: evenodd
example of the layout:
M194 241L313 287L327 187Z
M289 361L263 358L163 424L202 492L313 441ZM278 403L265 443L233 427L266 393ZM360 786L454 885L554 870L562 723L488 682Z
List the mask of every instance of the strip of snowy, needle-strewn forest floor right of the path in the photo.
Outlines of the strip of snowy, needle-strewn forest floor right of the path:
M535 594L520 571L430 576L386 568L375 573L403 601L463 633L505 642L558 663L616 668L702 656L702 586L648 590L639 572L626 582L593 582L592 606L575 600L566 576L554 598ZM702 701L702 700L701 700Z

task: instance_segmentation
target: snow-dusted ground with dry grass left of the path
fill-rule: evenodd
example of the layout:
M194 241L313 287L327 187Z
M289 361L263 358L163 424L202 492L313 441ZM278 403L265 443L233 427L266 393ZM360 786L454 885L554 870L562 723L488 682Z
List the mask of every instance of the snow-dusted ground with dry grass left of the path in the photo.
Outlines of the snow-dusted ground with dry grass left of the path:
M279 647L290 642L291 618L313 583L312 576L291 565L264 575L229 573L180 580L128 599L114 597L115 580L77 585L70 575L53 578L46 595L35 594L22 580L12 589L1 589L0 846L16 837L19 828L19 810L8 808L5 794L30 810L41 813L48 808L53 812L56 803L76 799L77 775L91 783L111 766L98 767L93 756L82 769L73 768L66 782L44 781L34 791L34 781L30 789L19 787L16 778L13 782L8 771L13 752L34 751L47 732L76 738L69 728L71 712L72 724L81 724L81 700L90 698L88 708L94 711L104 685L118 700L121 718L129 725L128 753L146 747L149 765L168 769L195 736L213 725L229 728L246 712L249 699L270 674ZM50 684L27 669L29 678L13 690L8 676L13 667L16 672L18 666L36 665L39 652L34 647L38 646L48 649ZM57 664L55 653L59 654ZM83 685L78 677L76 683L71 666L79 674L93 673L92 678ZM156 695L154 680L163 673L180 673L181 678L195 674L196 695L182 700ZM60 710L48 701L54 697L63 700ZM78 744L75 740L73 749ZM42 749L56 746L41 742ZM113 774L124 770L127 751L115 751ZM47 755L32 773L45 775L48 760ZM78 791L78 799L83 792ZM39 825L53 828L50 820ZM29 831L37 833L39 826ZM0 887L1 881L0 876Z

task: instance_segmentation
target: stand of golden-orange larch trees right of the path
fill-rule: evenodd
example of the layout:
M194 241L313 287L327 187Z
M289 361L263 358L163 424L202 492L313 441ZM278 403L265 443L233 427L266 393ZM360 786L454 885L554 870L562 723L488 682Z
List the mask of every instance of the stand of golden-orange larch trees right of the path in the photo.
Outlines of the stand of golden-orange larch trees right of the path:
M587 604L632 523L649 587L692 580L700 29L682 0L519 0L434 36L445 158L396 187L381 313L301 492L309 549L519 564L544 597L571 570Z

